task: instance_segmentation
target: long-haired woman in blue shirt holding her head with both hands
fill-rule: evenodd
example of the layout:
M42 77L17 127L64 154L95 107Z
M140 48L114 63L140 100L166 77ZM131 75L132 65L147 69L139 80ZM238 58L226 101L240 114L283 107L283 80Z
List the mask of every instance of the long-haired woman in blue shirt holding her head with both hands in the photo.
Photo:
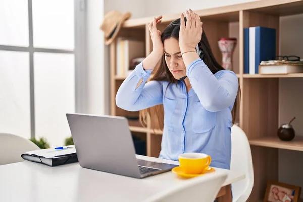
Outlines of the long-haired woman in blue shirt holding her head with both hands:
M216 61L199 16L192 10L185 15L162 34L157 30L162 16L150 22L153 51L122 83L116 104L128 111L163 104L160 158L177 161L182 153L206 153L212 158L211 166L230 169L238 78ZM149 114L151 119L161 116Z

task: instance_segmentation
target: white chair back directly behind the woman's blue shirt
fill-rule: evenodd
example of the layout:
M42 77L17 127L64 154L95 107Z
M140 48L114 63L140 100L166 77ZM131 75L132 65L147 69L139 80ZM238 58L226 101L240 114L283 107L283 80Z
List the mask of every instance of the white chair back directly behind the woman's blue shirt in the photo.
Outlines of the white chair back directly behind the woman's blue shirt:
M232 184L233 202L245 202L254 185L254 168L247 136L237 125L231 128L231 145L230 169L245 174L245 179Z

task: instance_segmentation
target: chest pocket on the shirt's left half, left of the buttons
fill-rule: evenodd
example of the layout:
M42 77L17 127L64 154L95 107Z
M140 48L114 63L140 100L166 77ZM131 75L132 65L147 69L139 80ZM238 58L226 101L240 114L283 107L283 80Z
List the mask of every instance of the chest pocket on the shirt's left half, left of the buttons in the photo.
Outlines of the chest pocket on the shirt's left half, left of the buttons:
M173 128L173 117L175 115L176 106L177 100L164 98L164 124L168 127L169 130L172 130Z

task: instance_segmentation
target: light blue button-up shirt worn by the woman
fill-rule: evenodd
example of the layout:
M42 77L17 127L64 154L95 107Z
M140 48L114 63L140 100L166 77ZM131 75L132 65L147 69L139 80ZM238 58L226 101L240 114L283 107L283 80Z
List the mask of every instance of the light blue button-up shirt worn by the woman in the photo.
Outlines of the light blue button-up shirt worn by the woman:
M211 156L210 166L230 169L231 126L238 90L238 78L229 70L213 74L203 60L193 61L186 70L192 88L184 81L150 81L151 70L142 63L124 80L116 95L118 107L138 111L163 104L164 129L160 158L176 160L182 153ZM137 84L142 84L136 89Z

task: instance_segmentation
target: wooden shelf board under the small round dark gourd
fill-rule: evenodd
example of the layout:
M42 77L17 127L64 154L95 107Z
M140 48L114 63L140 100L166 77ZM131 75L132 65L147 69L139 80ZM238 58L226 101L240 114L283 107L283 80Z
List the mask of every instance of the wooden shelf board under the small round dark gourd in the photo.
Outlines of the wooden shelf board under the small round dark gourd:
M278 137L263 137L249 140L249 143L254 146L303 151L303 137L295 137L292 141L281 141Z

